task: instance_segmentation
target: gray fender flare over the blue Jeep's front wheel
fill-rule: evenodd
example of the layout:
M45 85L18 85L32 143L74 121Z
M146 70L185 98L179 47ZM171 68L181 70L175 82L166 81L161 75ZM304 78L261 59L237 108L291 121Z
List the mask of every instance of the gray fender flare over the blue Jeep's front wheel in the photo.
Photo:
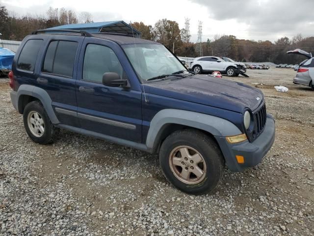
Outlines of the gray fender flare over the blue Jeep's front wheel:
M202 113L177 109L164 109L159 111L152 119L147 134L146 146L156 147L158 133L166 124L181 124L211 133L213 136L233 136L242 132L230 121Z

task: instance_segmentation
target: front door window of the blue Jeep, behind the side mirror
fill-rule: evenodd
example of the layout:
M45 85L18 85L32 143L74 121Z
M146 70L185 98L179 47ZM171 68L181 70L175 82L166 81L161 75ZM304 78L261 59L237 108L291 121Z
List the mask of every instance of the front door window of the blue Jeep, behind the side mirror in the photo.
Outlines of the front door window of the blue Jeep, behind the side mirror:
M115 72L123 77L122 65L110 48L88 44L84 56L83 80L101 84L105 72Z

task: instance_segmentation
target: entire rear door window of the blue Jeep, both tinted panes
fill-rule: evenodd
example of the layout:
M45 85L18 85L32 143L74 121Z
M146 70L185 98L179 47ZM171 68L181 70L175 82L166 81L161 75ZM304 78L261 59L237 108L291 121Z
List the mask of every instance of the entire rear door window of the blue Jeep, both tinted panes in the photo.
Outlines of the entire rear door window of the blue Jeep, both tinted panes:
M43 72L72 77L77 50L77 42L52 41L46 52Z

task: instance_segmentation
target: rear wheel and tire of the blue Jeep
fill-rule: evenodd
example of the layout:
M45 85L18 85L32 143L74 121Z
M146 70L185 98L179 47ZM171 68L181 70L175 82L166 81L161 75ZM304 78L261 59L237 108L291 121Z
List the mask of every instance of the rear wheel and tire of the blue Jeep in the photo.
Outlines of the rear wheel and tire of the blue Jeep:
M43 105L39 101L33 101L26 105L23 121L26 133L35 143L49 144L59 135L60 129L53 126Z

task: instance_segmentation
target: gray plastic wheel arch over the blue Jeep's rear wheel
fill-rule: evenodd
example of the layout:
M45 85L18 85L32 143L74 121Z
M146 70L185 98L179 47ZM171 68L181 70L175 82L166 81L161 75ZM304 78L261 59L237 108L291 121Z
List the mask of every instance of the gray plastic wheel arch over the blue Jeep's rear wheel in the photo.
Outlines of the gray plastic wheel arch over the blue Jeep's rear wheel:
M19 87L17 91L17 108L19 113L23 114L25 106L35 100L41 102L53 124L60 123L52 109L52 100L44 89L31 85L21 85Z

